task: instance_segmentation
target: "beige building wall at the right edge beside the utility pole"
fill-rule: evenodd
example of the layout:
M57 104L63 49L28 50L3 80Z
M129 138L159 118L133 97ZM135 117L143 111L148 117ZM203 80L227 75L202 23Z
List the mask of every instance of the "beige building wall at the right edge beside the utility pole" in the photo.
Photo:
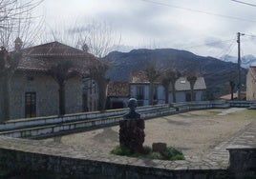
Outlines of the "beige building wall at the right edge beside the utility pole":
M250 67L246 75L246 100L256 100L256 67Z

